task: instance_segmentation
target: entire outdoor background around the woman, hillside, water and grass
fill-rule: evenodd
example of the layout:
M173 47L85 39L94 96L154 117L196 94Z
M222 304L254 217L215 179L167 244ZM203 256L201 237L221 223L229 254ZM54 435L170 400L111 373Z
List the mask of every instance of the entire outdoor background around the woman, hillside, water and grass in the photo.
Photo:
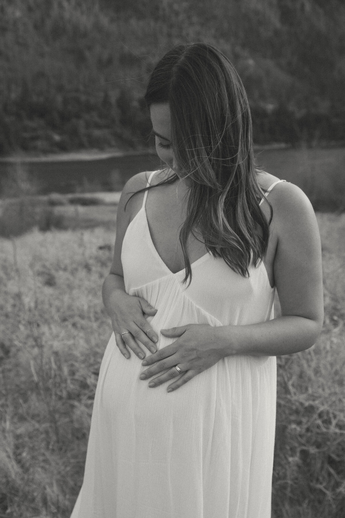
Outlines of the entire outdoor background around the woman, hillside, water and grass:
M0 516L70 515L118 199L160 166L146 83L197 41L235 65L257 163L304 190L322 240L322 335L278 358L273 518L345 515L343 1L0 0Z

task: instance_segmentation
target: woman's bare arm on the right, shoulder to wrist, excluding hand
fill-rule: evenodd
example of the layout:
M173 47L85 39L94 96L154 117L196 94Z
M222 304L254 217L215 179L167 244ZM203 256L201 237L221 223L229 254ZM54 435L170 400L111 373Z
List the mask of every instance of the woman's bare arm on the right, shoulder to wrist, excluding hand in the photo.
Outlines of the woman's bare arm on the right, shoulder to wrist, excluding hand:
M216 328L224 356L303 351L322 329L321 242L312 206L301 189L289 183L272 192L271 203L278 236L274 277L281 316L260 324Z

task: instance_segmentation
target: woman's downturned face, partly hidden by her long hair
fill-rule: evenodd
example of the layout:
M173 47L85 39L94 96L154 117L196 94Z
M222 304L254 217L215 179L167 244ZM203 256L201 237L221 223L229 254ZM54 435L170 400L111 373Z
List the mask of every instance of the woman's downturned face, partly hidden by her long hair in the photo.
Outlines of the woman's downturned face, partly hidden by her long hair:
M171 124L168 103L152 104L150 107L153 132L156 136L156 150L159 158L174 169L174 157L171 149Z

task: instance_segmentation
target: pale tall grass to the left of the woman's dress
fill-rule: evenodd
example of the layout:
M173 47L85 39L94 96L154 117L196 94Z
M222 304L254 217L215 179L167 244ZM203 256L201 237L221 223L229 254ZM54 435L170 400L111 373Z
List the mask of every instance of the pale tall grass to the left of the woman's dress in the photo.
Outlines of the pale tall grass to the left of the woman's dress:
M34 231L1 246L0 515L68 516L111 326L109 233Z

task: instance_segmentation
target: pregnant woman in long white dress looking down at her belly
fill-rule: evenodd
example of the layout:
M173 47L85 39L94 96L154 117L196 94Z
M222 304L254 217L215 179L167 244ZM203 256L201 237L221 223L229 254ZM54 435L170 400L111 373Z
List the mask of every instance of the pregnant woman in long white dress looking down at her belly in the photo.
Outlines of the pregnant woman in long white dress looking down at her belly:
M316 218L254 167L246 93L219 50L173 48L145 100L167 167L119 202L103 284L114 333L72 518L268 518L276 356L323 323Z

